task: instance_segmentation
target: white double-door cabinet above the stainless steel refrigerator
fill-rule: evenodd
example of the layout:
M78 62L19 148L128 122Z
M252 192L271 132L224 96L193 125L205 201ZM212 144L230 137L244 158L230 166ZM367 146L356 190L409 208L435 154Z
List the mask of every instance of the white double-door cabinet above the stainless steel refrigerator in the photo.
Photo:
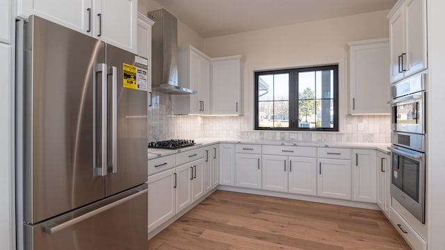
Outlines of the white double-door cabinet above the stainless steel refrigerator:
M138 0L18 0L17 15L38 15L115 47L136 52Z

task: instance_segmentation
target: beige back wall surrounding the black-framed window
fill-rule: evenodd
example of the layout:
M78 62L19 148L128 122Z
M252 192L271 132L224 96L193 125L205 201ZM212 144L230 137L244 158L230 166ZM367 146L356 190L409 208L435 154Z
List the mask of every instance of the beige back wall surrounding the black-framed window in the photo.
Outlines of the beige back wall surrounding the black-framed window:
M345 131L347 42L388 37L388 12L206 38L204 53L211 57L245 56L244 110L249 117L254 114L254 71L338 63L340 129Z

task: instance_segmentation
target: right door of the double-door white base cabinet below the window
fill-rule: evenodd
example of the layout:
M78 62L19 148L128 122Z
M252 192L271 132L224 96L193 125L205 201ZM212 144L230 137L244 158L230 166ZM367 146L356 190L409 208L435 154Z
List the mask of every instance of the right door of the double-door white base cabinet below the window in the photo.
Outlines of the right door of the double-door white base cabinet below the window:
M289 192L317 194L316 158L289 157Z

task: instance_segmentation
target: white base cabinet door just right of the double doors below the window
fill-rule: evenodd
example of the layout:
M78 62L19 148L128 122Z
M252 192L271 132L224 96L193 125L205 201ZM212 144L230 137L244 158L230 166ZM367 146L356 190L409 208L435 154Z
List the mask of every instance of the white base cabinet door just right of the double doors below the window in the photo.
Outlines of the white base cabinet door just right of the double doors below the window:
M318 159L317 195L351 199L350 160Z

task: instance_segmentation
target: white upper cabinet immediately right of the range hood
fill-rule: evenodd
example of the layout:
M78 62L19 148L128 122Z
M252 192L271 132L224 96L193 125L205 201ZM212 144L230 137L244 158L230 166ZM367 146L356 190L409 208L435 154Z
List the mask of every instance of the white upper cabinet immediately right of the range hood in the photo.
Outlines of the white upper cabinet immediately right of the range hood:
M173 96L173 113L208 115L210 113L210 58L195 47L178 48L179 85L197 94Z

